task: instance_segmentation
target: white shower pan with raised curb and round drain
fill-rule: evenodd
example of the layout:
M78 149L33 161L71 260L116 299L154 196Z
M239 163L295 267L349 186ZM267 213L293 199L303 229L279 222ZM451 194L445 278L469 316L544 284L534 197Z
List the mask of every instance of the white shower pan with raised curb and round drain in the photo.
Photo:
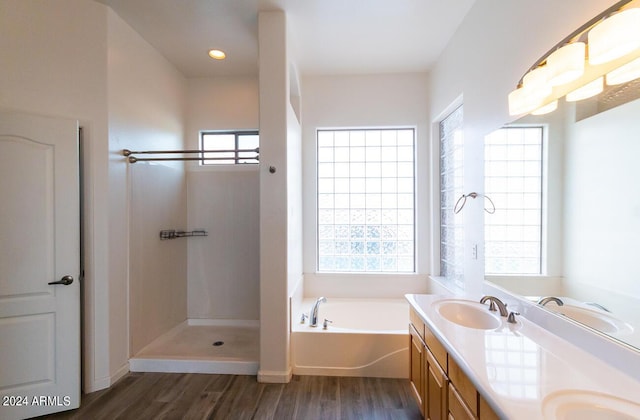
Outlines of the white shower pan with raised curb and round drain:
M129 369L255 375L258 360L258 321L190 319L138 352Z

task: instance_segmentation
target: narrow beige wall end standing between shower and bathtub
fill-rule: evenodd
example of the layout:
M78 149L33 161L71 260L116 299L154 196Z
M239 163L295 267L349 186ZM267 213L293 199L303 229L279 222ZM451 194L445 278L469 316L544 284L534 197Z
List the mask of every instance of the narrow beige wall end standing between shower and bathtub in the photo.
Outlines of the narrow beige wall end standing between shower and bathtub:
M295 192L288 191L288 177L300 173L289 168L296 157L288 153L295 143L295 113L290 104L290 63L284 12L260 12L260 370L261 382L291 379L289 348L289 241L301 227L290 226L290 205ZM292 135L290 139L288 136ZM290 150L291 145L291 150ZM270 168L273 170L270 171ZM289 172L291 171L291 172ZM298 274L299 276L300 274Z

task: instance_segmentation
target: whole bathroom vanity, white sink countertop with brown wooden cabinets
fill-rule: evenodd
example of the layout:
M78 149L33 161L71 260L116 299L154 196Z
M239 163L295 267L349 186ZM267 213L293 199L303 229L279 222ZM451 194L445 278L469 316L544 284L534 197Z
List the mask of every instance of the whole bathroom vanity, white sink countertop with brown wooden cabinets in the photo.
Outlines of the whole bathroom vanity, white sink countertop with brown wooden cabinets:
M526 318L454 296L406 298L424 418L640 418L637 379Z

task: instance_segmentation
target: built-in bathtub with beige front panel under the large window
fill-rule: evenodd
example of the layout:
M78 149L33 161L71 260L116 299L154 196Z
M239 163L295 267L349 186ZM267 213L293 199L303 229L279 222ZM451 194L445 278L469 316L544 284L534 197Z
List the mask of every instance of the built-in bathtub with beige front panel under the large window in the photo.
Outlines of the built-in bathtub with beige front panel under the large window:
M292 313L291 355L296 375L407 378L409 304L405 299L327 298L318 326L300 323L315 299ZM324 330L324 319L331 320Z

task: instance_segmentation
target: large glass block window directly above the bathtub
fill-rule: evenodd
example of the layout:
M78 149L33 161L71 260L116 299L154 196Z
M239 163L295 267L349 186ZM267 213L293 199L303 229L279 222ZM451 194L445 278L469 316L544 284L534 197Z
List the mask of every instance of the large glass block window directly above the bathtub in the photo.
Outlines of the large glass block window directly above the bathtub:
M414 272L414 130L317 136L318 271Z

